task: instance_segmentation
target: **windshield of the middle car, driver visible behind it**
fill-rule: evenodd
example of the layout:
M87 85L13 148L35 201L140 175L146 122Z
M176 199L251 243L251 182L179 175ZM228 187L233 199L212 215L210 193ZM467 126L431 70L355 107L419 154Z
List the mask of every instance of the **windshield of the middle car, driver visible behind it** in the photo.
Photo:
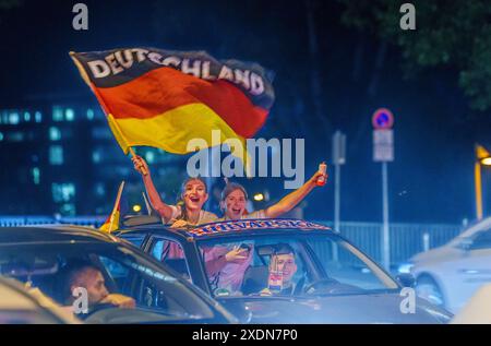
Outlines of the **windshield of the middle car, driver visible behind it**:
M254 234L200 240L215 296L363 295L398 289L363 253L333 234Z

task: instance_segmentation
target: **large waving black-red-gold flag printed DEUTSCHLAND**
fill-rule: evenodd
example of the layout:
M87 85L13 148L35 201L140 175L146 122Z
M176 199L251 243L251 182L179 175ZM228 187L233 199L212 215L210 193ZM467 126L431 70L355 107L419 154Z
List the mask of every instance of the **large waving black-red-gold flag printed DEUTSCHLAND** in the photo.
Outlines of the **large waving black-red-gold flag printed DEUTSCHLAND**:
M212 146L212 130L220 130L220 143L243 143L274 102L272 73L256 63L155 48L70 55L125 154L137 145L187 154L191 139Z

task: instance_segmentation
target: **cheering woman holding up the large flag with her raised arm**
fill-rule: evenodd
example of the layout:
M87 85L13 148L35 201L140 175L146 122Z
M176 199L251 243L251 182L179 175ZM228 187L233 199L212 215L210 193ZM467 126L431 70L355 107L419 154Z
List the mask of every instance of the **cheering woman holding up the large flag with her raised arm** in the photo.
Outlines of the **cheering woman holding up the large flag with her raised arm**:
M160 214L165 224L183 227L212 223L217 219L215 214L203 210L203 205L208 199L206 182L203 179L188 178L181 186L180 201L177 205L170 205L160 199L146 162L137 155L133 156L132 160L134 168L143 177L152 206Z

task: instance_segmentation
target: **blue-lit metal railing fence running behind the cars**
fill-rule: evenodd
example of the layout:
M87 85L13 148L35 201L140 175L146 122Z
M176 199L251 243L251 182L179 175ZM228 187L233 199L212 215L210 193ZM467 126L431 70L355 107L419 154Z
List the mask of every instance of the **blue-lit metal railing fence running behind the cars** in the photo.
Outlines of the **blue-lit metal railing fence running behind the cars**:
M105 219L105 216L0 216L0 226L71 224L99 227ZM318 223L333 226L332 222ZM460 225L391 224L391 264L397 265L418 252L440 247L462 230ZM382 261L382 224L342 222L339 231L376 262Z

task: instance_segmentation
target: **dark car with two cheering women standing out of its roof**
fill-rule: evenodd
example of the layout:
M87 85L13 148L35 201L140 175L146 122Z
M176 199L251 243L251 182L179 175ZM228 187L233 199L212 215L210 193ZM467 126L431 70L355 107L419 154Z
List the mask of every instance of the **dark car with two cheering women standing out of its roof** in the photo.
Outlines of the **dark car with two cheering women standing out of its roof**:
M446 323L451 314L423 299L414 313L400 307L403 285L335 231L297 219L256 219L213 223L190 229L142 225L127 220L119 237L140 246L176 274L190 279L224 307L250 323ZM133 226L129 226L132 225ZM137 226L140 224L140 226ZM229 250L247 251L240 263L216 261ZM272 258L292 250L291 289L273 291ZM282 252L283 251L283 252ZM221 256L213 256L221 253ZM244 253L244 252L241 252ZM224 284L243 273L240 285ZM213 274L215 273L215 274ZM285 275L285 274L284 274ZM402 276L406 286L414 279ZM416 296L416 295L415 295Z

